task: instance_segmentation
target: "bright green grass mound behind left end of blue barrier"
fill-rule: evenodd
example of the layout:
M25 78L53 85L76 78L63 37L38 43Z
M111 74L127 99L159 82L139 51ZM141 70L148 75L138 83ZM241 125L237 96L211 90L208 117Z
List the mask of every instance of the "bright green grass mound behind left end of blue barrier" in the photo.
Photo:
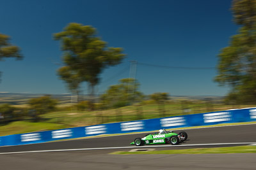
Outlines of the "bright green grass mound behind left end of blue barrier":
M50 131L54 129L66 128L65 125L51 124L47 122L12 122L8 125L0 126L0 136L7 136L10 134L21 134L36 131Z

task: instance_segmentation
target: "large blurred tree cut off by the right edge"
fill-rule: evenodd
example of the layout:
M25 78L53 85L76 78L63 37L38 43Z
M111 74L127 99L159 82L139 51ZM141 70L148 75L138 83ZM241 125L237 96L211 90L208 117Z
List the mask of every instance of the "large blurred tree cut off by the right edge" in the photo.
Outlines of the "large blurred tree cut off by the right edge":
M218 55L215 81L230 87L227 99L251 103L256 99L256 1L235 0L232 11L241 28Z

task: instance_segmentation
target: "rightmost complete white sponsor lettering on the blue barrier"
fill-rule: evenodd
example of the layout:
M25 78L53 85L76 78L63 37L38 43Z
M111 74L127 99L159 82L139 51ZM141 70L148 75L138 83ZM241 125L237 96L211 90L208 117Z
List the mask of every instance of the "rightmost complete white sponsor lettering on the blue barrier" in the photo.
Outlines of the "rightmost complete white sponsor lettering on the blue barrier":
M232 118L232 115L228 111L204 114L204 122L205 123L225 122L225 121L230 121L231 118Z

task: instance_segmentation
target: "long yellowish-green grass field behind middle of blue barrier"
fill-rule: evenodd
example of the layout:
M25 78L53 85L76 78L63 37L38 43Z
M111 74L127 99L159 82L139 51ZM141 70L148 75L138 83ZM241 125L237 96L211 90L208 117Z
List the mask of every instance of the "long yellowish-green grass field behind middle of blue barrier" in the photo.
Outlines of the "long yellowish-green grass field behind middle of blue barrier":
M181 110L180 103L171 103L164 106L164 115L159 113L159 106L157 104L147 104L143 106L126 106L117 110L103 110L103 111L58 111L42 115L47 122L56 124L65 124L70 127L77 127L83 125L106 124L112 122L124 122L132 120L159 118L159 117L174 117L180 115L189 115L195 113L206 113L210 111L228 110L230 106L215 105L212 110L207 110L206 106L200 103L190 104L191 110L184 113ZM248 106L240 106L248 107ZM138 109L141 111L138 112Z

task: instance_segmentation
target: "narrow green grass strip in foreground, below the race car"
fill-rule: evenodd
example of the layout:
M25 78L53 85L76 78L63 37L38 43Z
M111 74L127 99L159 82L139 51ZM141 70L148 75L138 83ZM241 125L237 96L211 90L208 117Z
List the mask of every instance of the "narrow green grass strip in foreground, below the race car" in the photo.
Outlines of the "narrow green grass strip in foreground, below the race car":
M149 152L113 152L110 154L202 154L202 153L256 153L256 146L233 146L223 148L195 148L188 150L156 150Z

